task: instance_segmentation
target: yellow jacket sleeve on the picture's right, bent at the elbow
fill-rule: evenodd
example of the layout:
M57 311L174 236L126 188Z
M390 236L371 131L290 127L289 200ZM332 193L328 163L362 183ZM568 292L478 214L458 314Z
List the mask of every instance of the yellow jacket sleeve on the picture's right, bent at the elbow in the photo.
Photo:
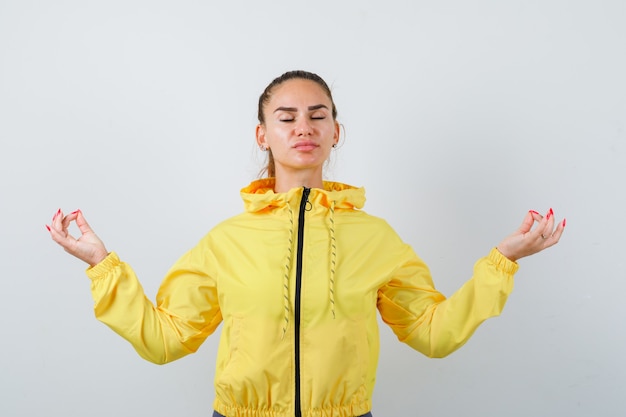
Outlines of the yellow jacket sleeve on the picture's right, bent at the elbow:
M476 262L473 277L448 299L435 290L426 264L407 250L408 260L378 292L381 317L400 341L426 356L444 357L502 312L518 264L496 248Z

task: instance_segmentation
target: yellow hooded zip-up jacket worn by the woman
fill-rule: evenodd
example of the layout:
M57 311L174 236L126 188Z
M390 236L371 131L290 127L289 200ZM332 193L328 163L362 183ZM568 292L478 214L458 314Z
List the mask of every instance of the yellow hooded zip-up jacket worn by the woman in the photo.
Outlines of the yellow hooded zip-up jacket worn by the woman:
M362 188L324 188L274 193L272 179L251 183L245 212L176 262L156 306L111 253L87 271L96 317L159 364L195 352L223 321L214 408L225 416L367 413L376 309L400 341L442 357L500 314L517 264L493 249L446 299L411 247L360 210Z

